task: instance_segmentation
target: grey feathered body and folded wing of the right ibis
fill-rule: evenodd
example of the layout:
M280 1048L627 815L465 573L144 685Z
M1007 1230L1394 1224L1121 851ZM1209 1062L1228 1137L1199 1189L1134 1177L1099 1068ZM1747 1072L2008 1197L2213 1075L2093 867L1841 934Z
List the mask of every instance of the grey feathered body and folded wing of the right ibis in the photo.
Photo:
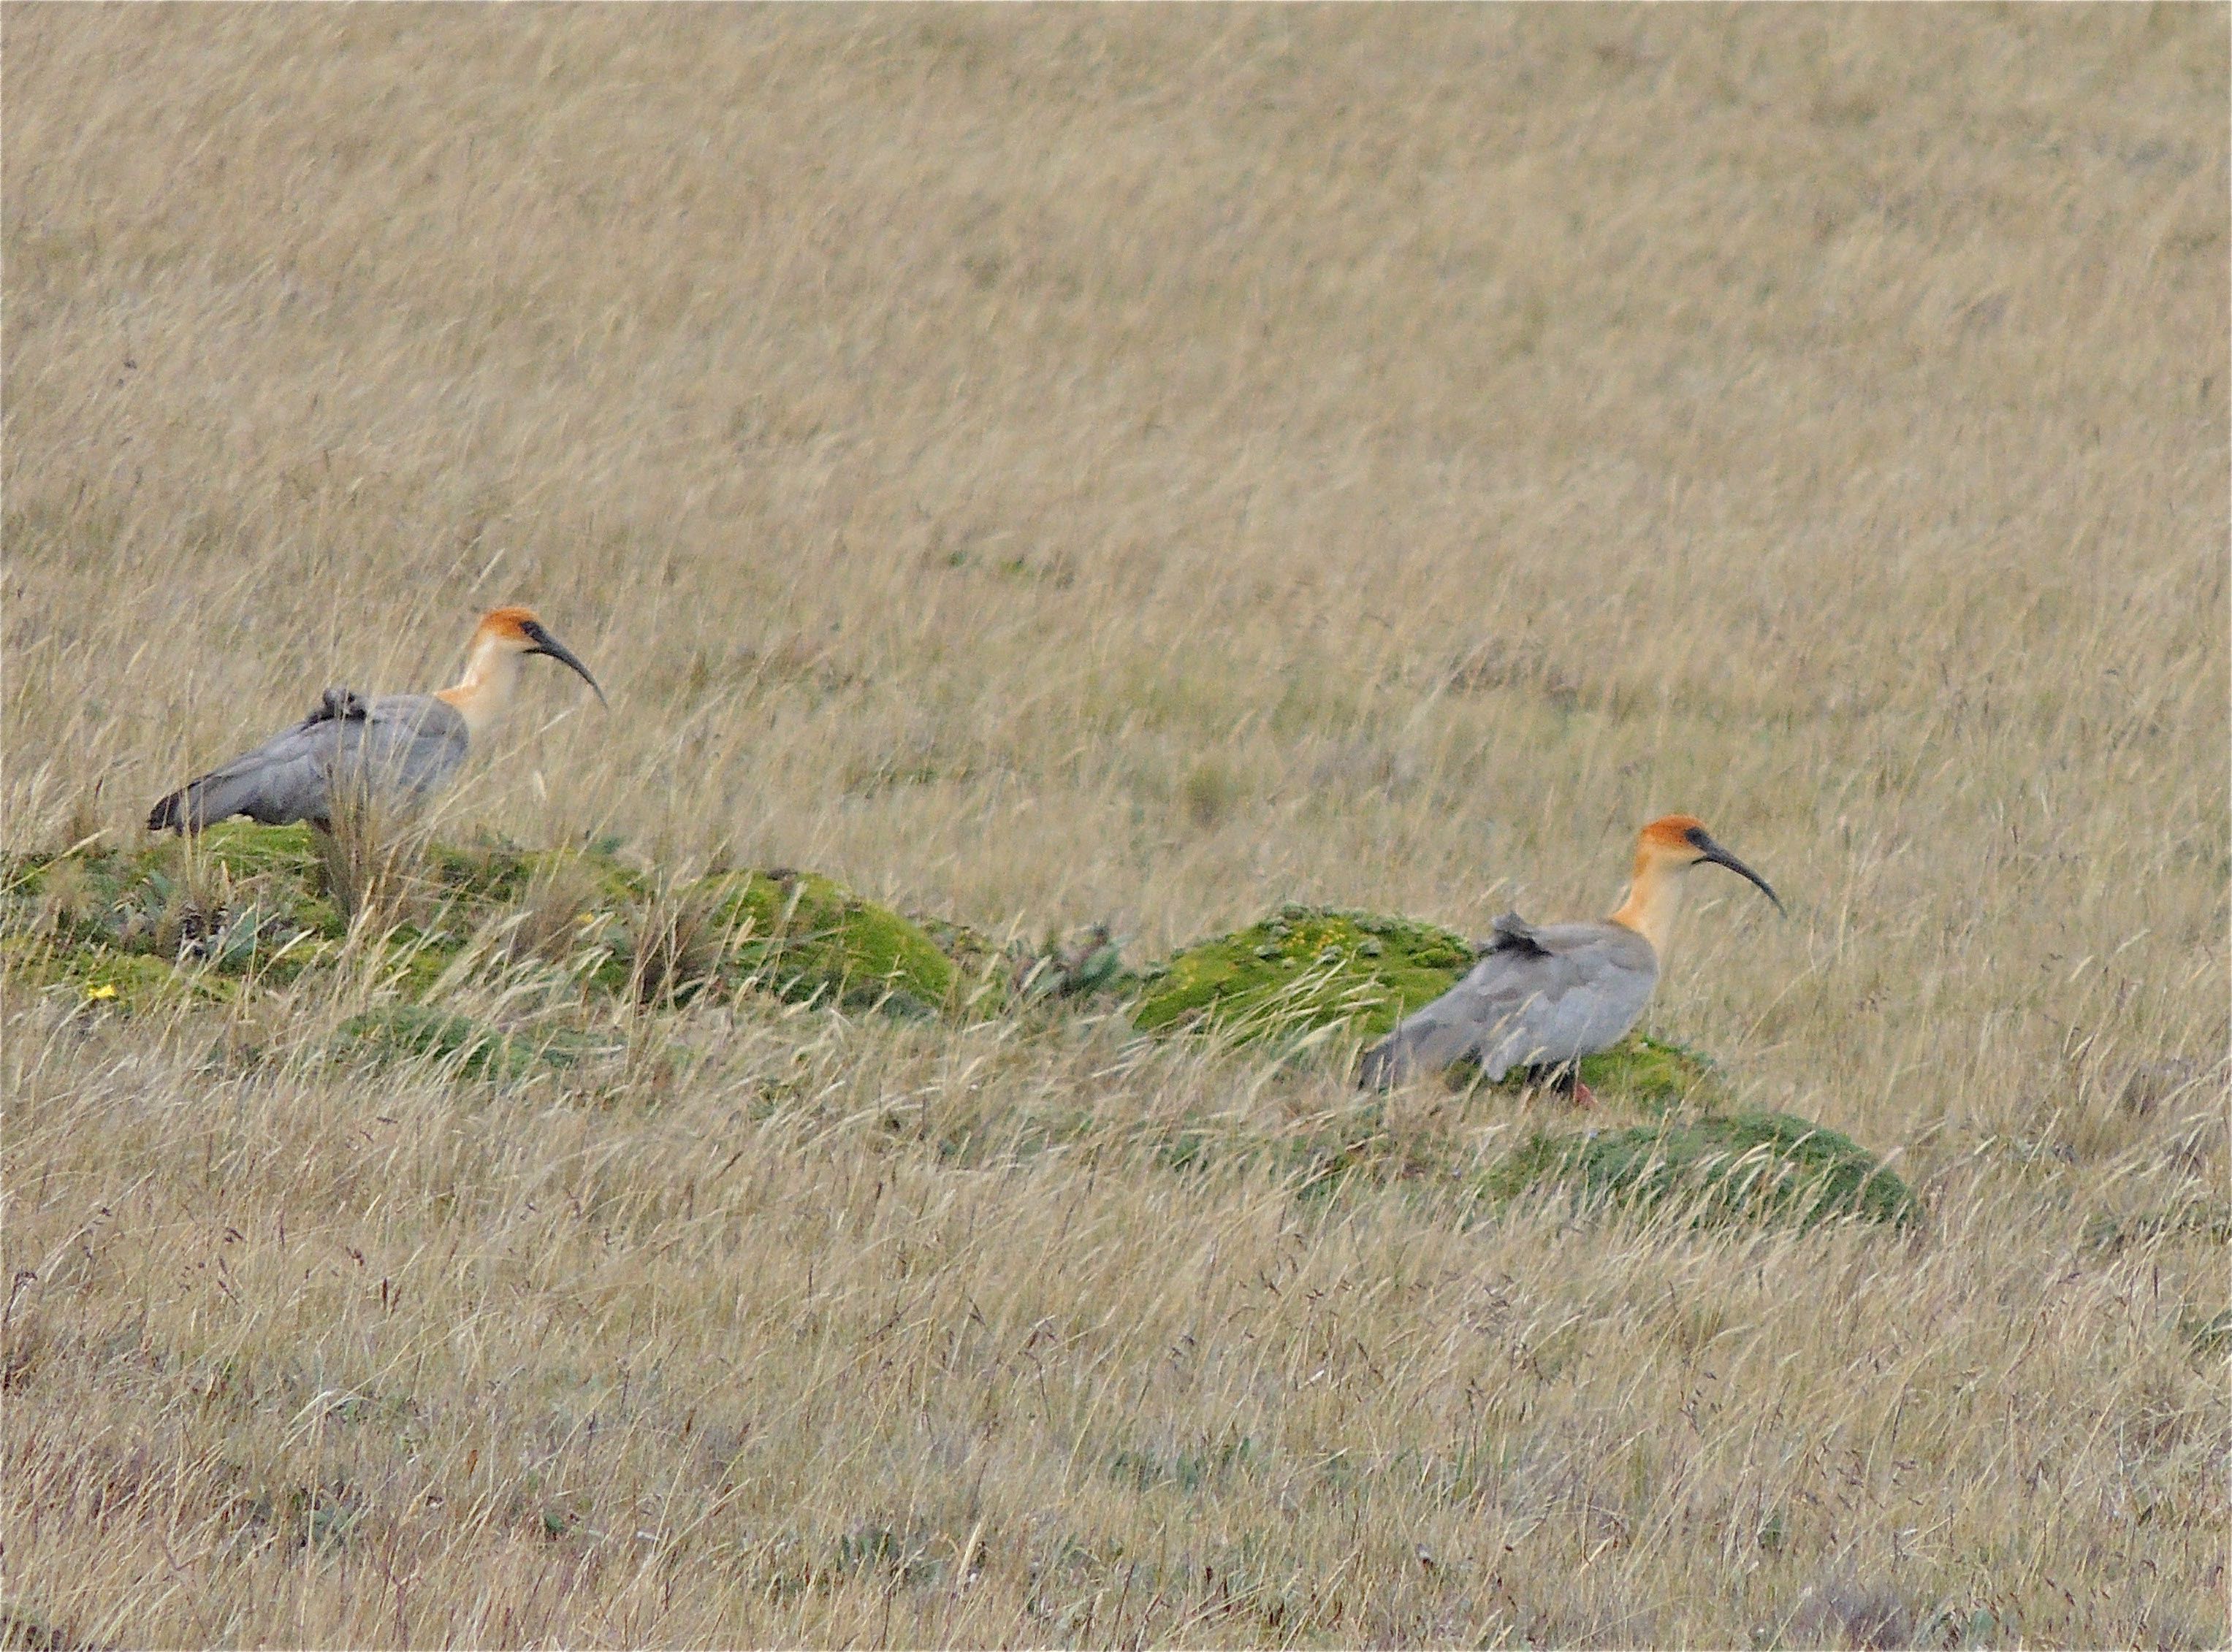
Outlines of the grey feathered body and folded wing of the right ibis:
M1379 1087L1473 1058L1495 1080L1576 1060L1616 1045L1656 985L1656 953L1620 924L1536 926L1504 913L1473 971L1375 1045L1362 1078Z

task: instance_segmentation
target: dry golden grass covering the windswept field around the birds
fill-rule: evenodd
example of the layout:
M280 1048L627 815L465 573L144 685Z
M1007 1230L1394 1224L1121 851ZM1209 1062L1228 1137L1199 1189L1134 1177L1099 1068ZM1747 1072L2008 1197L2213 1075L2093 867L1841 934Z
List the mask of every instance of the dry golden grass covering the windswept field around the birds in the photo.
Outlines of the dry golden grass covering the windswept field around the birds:
M614 712L442 828L1138 955L1690 808L1792 922L1654 1025L1931 1206L1181 1174L1357 1101L1094 1018L9 987L11 1645L2225 1641L2223 9L0 27L11 846L496 601Z

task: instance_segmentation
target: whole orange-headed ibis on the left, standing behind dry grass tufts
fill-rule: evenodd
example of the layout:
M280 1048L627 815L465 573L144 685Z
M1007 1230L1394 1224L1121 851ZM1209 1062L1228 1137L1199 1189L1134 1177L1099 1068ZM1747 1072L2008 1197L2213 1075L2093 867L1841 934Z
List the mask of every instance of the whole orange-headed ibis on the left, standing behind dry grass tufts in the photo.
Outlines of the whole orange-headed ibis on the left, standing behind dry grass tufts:
M174 790L147 815L147 830L199 833L248 815L266 826L306 819L328 828L350 799L417 808L455 779L475 739L484 739L511 703L520 661L547 654L605 692L525 607L498 607L473 630L464 676L435 694L377 694L328 688L317 710Z

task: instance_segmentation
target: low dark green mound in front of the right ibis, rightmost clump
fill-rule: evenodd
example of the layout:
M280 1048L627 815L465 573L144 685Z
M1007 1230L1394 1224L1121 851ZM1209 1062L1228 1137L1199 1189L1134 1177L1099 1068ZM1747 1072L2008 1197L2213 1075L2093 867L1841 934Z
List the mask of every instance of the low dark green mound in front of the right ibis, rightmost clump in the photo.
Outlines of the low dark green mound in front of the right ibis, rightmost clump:
M1707 1114L1687 1123L1538 1134L1482 1181L1495 1201L1569 1188L1580 1203L1687 1206L1703 1221L1832 1217L1911 1223L1913 1190L1850 1136L1783 1112Z

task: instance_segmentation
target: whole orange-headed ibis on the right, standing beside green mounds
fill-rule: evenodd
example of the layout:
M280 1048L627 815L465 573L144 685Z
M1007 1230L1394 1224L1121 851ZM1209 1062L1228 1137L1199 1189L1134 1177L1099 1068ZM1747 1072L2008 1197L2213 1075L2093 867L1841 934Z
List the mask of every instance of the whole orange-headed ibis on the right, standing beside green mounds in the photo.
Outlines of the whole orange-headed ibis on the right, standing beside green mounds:
M1364 1056L1362 1080L1393 1085L1460 1060L1500 1080L1513 1067L1556 1067L1609 1049L1643 1016L1681 909L1692 866L1728 866L1752 880L1774 909L1768 882L1716 842L1694 815L1665 815L1636 837L1627 900L1598 924L1495 920L1471 973L1408 1016Z

